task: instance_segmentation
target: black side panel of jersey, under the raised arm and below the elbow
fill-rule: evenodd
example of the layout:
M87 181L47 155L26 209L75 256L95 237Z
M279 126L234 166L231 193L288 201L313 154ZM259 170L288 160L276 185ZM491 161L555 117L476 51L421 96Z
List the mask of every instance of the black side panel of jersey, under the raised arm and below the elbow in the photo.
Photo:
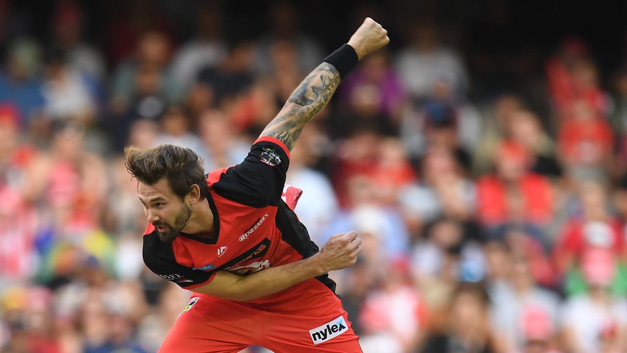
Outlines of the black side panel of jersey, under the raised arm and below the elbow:
M303 259L310 258L318 253L319 249L315 242L311 241L307 228L296 217L294 211L288 207L283 200L278 205L277 229L281 231L283 241L290 244ZM335 281L329 278L329 274L317 276L316 280L329 287L335 293Z

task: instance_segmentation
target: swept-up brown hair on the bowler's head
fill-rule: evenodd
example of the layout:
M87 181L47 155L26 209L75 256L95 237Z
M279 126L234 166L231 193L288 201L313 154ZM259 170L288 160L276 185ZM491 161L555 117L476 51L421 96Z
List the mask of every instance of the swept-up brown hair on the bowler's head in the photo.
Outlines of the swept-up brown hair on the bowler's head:
M196 184L201 198L209 196L209 187L204 176L203 158L192 149L172 144L161 144L154 148L124 148L126 169L139 182L152 185L166 178L172 191L181 200Z

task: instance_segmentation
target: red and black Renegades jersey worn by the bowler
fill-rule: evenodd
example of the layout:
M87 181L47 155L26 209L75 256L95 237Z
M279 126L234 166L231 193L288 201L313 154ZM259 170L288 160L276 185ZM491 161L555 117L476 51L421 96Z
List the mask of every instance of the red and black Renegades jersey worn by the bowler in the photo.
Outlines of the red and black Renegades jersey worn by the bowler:
M307 229L282 199L289 158L285 144L262 137L242 163L209 173L207 202L213 212L214 237L181 233L164 243L149 224L144 234L146 266L192 290L211 282L216 271L245 275L317 253ZM317 280L335 290L327 275Z

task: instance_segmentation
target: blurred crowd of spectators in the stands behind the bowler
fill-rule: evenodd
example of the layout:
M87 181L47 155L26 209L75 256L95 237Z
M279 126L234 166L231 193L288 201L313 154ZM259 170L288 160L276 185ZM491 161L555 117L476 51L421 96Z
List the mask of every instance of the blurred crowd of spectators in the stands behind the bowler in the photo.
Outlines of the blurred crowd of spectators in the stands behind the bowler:
M292 152L366 353L627 352L624 2L0 0L0 352L156 352L126 144L243 160L366 16ZM262 352L250 348L246 352Z

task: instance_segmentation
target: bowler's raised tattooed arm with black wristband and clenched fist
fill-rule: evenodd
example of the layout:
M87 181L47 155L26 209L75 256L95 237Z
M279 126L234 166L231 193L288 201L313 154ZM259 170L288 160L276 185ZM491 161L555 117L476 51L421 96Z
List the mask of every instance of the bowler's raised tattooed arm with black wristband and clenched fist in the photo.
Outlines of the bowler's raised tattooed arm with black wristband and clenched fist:
M347 44L325 58L309 73L285 102L285 106L261 132L282 141L290 151L305 124L327 105L335 89L364 55L389 43L387 31L371 18L350 37Z

